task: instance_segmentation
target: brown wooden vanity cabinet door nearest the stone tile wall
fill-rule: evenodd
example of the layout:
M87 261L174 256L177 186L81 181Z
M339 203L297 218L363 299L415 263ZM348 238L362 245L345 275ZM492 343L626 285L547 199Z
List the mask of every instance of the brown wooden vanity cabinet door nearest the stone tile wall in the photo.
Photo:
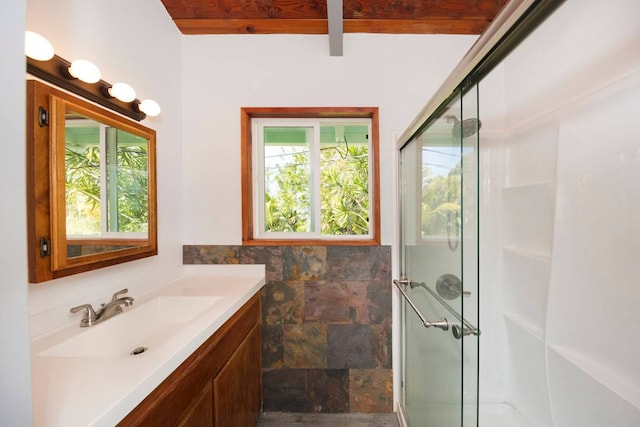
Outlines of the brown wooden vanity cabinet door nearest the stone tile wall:
M262 406L260 324L213 380L214 426L254 427Z

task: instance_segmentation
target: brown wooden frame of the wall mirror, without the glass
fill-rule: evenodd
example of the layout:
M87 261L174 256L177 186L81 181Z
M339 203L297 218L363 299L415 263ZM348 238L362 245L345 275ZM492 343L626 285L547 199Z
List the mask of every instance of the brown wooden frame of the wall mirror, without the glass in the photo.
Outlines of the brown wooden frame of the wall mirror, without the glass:
M65 110L141 136L147 145L148 238L123 249L68 257L64 193ZM58 140L62 139L63 144ZM29 282L40 283L158 254L156 133L44 83L27 80L27 234ZM95 239L112 246L111 239Z

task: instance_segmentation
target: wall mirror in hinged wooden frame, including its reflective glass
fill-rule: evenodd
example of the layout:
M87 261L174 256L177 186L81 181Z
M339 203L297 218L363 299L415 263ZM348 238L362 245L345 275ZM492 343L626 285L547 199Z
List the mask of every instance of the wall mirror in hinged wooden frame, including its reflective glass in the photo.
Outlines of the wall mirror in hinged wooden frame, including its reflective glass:
M27 81L29 281L158 253L155 131Z

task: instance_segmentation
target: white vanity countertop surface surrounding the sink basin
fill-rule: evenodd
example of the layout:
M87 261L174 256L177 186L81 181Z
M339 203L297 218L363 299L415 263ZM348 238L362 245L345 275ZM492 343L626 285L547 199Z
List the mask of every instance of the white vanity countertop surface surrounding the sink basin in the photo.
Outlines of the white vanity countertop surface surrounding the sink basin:
M222 300L180 330L169 351L131 357L52 357L57 343L99 328L78 325L32 343L33 413L36 426L113 426L135 408L264 285L264 276L191 274L137 297L126 311L157 296L221 296ZM117 318L117 317L114 317ZM106 325L112 319L106 320ZM126 334L126 330L122 331ZM143 356L143 357L141 357Z

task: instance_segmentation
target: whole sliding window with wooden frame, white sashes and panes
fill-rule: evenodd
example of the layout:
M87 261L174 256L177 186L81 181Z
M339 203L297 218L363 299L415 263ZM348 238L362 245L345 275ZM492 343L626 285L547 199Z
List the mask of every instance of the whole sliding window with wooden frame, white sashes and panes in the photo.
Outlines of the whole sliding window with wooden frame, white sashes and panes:
M243 108L243 242L379 244L377 108Z

